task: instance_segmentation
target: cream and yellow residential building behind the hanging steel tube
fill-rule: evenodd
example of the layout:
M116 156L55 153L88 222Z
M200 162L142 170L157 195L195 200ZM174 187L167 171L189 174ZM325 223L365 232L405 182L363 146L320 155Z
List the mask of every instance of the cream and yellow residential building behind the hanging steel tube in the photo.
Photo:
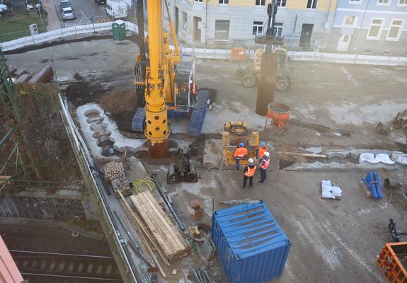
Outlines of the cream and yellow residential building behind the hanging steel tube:
M265 33L271 0L169 0L176 33L187 45L231 47ZM277 35L304 50L326 47L337 0L277 0ZM395 0L393 0L395 1ZM407 0L406 0L407 1Z

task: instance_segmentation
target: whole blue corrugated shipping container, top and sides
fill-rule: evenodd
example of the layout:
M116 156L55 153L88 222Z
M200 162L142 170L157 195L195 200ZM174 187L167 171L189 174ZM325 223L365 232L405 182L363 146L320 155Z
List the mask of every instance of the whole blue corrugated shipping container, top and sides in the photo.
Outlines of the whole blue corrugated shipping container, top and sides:
M263 201L213 212L212 240L230 283L281 277L291 246Z

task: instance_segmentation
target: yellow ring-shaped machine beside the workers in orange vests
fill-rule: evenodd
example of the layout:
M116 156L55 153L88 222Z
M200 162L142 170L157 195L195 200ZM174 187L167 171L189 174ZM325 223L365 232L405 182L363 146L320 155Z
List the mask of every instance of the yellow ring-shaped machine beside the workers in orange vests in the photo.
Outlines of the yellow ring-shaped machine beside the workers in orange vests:
M236 146L243 142L248 154L246 158L240 161L245 166L248 164L248 158L256 158L256 150L259 146L260 135L258 132L249 132L246 122L226 122L222 133L222 156L224 162L234 165L234 151Z

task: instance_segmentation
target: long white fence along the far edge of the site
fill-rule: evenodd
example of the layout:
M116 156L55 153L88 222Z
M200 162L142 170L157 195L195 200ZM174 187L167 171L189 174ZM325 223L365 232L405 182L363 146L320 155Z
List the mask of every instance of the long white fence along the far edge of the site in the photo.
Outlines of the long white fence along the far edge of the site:
M138 27L134 23L126 22L126 29L130 30L132 33L138 33ZM16 40L2 42L0 46L3 51L11 51L23 47L39 45L45 42L62 40L67 37L73 37L75 35L92 34L110 30L112 30L112 22L93 23L88 25L76 25L70 28L60 28L58 30L51 30L47 33L40 33L38 35L26 36L18 38ZM183 48L183 51L191 52L192 48ZM194 51L197 58L231 59L231 50L195 48ZM253 57L253 54L254 54L253 50L250 50L248 56ZM407 57L376 56L366 54L340 54L325 52L302 52L302 51L290 51L288 54L292 61L330 62L340 64L369 64L377 66L407 67Z

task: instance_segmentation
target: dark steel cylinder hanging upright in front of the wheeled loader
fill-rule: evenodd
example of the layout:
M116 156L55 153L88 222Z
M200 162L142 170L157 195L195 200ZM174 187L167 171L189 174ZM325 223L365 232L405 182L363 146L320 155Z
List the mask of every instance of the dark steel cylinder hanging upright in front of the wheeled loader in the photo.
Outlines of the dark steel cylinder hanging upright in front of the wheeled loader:
M267 106L274 100L275 81L277 80L277 54L264 52L261 57L260 79L256 100L256 114L267 115Z

